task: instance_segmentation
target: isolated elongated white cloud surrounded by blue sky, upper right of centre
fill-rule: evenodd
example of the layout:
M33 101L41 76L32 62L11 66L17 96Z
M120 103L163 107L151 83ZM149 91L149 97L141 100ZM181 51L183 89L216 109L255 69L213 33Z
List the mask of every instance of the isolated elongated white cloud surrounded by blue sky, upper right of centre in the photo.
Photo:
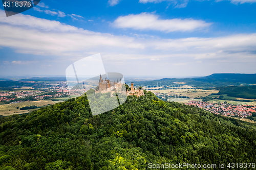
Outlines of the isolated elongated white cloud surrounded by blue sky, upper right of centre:
M212 23L194 19L159 19L158 15L150 13L130 14L118 17L113 26L116 28L131 28L135 30L155 30L163 32L195 31L205 29Z

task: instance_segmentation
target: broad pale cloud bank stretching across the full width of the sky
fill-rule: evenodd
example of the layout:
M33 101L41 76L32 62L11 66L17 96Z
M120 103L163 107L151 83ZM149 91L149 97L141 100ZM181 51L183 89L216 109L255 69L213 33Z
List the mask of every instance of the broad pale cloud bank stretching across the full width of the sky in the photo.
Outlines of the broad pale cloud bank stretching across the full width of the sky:
M0 10L0 16L5 16L3 10ZM111 68L120 67L121 70L132 64L135 73L140 70L152 71L149 73L152 75L159 74L159 71L162 70L165 72L177 71L181 66L179 63L186 63L185 71L193 70L189 71L189 74L193 76L196 75L197 70L199 73L202 70L217 68L218 70L225 68L230 71L251 70L253 67L248 65L256 63L255 33L177 39L116 36L84 30L59 21L30 15L17 14L17 16L0 17L0 29L2 30L0 46L12 48L16 53L38 55L41 56L38 57L40 59L47 59L50 56L51 62L47 64L54 63L52 60L56 59L56 63L66 61L69 65L72 63L71 61L101 53L105 61L113 64ZM164 29L164 31L169 29ZM36 56L33 59L35 58ZM26 63L22 59L13 59L12 61L9 62L12 64ZM226 64L227 62L228 64ZM232 63L237 63L237 65ZM241 65L241 63L244 64ZM213 65L212 69L209 68L211 65ZM63 69L65 70L65 67ZM178 72L180 73L181 70ZM131 70L130 73L132 74ZM187 73L185 72L183 75L187 75Z

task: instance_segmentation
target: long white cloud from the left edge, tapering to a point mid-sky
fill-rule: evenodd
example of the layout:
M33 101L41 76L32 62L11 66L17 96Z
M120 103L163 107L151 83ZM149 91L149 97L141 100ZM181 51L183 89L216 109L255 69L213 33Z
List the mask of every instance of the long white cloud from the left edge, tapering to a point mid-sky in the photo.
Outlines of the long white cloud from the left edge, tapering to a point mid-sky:
M3 10L1 13L4 15ZM105 47L144 48L133 37L96 33L29 15L0 17L0 23L3 29L0 45L13 47L19 53L61 56L73 52L81 55L84 51Z

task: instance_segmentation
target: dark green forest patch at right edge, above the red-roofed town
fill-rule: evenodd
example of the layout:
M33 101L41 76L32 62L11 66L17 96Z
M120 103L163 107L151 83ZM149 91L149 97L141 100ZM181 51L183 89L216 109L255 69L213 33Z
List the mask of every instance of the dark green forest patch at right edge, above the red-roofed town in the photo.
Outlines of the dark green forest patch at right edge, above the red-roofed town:
M216 89L220 90L217 94L227 94L236 98L256 99L256 86L227 86Z

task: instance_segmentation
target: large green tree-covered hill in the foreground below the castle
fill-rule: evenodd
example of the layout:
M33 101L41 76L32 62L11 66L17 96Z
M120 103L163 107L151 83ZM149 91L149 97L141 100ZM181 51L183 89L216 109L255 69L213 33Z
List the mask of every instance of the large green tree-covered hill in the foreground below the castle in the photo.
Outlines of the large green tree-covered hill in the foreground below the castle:
M85 96L0 118L0 169L256 162L255 125L158 101L151 92L143 97L129 96L123 105L96 116Z

